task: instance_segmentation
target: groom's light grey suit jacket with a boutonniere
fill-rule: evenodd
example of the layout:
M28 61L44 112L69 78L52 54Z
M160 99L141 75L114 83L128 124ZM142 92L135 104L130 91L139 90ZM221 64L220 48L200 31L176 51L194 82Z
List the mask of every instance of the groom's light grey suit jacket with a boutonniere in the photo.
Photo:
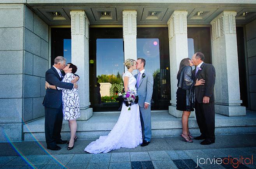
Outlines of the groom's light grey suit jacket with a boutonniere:
M152 74L147 74L144 72L145 77L141 76L139 85L137 87L137 93L139 97L139 106L144 107L144 102L150 103L153 93L153 76ZM135 75L135 78L138 78L138 74Z

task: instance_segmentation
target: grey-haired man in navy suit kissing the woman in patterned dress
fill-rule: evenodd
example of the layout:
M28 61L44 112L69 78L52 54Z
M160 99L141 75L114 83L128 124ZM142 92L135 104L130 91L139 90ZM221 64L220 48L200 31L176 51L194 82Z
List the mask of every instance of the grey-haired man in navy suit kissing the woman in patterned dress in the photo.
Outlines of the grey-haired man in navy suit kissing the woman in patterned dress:
M65 67L66 59L58 56L54 60L54 65L46 71L45 80L50 85L55 85L60 88L72 89L77 88L76 83L62 82L61 70ZM43 101L45 111L45 138L47 148L51 150L60 150L56 144L65 144L67 141L61 139L60 131L62 128L62 90L53 90L48 88Z

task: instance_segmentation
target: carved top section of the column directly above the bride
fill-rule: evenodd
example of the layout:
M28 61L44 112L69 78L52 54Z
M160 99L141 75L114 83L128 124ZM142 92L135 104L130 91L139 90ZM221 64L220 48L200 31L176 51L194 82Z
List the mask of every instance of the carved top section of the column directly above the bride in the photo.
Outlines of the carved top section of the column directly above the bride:
M123 38L126 34L137 35L137 11L123 11Z

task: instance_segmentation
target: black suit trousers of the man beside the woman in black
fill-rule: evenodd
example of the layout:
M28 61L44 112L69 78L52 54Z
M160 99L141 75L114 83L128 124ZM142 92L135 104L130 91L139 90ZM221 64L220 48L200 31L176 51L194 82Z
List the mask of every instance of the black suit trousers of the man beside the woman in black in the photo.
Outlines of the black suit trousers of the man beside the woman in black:
M215 111L214 102L195 103L196 121L201 135L210 140L215 140Z

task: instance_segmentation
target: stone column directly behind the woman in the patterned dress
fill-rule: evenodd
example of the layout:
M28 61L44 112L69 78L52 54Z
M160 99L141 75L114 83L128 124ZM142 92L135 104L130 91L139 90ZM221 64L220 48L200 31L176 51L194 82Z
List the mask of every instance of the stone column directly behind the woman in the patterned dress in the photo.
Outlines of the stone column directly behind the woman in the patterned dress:
M89 90L89 20L83 10L73 10L71 15L71 60L78 67L78 93L80 98L81 117L88 120L92 117Z

